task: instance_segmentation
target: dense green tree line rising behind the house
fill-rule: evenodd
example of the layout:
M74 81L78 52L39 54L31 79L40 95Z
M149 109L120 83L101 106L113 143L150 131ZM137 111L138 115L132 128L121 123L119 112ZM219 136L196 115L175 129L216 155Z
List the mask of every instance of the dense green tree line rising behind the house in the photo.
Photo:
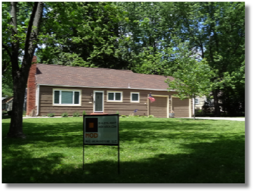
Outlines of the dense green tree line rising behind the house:
M34 54L38 63L165 76L182 68L190 72L194 62L183 67L180 62L190 64L188 59L194 58L214 72L210 89L215 115L221 108L229 114L245 111L244 2L39 5L2 2L2 96L15 93L15 75L24 74L26 83Z

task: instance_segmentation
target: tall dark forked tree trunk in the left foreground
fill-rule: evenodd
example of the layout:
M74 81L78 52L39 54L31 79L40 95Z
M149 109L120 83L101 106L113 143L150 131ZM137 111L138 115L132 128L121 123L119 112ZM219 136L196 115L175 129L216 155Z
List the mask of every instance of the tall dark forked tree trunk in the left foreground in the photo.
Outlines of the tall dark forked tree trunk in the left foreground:
M17 2L11 2L11 24L12 28L12 53L10 54L12 63L12 79L13 79L13 105L11 124L8 137L23 137L23 105L27 78L32 63L35 47L37 46L37 37L39 34L40 20L42 18L42 2L34 2L33 10L30 16L29 26L27 27L24 56L22 66L19 67L19 44L20 40L16 40L17 34Z

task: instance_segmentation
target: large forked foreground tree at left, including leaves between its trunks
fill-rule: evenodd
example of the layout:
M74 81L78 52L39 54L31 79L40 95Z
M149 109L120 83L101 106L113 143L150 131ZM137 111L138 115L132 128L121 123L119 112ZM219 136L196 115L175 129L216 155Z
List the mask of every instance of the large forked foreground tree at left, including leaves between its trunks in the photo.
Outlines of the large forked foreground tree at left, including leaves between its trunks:
M34 2L32 7L30 2L2 2L2 12L6 16L2 17L2 47L9 56L13 81L8 137L25 137L22 127L25 88L37 47L42 10L42 2ZM19 59L21 56L22 59Z

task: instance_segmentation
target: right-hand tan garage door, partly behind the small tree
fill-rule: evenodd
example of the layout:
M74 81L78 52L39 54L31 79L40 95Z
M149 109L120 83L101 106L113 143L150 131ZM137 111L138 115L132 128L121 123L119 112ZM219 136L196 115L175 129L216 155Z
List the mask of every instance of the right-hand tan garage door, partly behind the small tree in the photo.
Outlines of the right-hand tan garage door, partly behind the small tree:
M189 117L189 99L172 98L175 117Z

